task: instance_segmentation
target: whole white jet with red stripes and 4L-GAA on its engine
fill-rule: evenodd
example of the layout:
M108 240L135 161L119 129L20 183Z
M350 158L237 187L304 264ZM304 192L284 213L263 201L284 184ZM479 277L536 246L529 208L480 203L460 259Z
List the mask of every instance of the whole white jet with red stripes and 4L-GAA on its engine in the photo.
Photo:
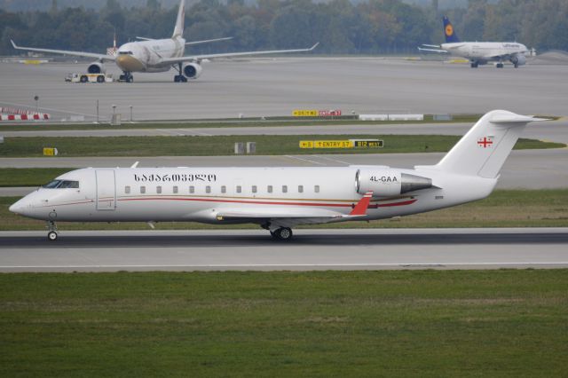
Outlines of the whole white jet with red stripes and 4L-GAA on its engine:
M528 122L485 114L436 165L325 168L88 168L57 177L10 207L47 221L259 224L279 240L297 224L373 220L485 198Z

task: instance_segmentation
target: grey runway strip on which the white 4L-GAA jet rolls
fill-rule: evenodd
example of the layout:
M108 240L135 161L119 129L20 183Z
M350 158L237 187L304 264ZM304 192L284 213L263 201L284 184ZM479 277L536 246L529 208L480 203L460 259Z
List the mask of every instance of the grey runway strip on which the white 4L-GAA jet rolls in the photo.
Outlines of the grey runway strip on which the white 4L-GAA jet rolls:
M0 272L568 267L568 229L0 232Z

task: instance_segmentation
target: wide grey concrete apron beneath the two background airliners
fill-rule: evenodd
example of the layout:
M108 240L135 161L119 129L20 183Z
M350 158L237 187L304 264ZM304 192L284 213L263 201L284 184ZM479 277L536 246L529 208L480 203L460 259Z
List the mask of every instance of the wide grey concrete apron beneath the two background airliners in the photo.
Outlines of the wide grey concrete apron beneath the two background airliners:
M485 113L502 108L522 114L568 115L568 66L469 68L467 64L384 58L216 60L190 83L173 83L173 71L137 74L135 83L65 83L79 64L0 64L0 106L39 107L54 120L71 115L109 120L233 118L288 115L294 109L341 109L345 114ZM119 75L114 65L107 72Z

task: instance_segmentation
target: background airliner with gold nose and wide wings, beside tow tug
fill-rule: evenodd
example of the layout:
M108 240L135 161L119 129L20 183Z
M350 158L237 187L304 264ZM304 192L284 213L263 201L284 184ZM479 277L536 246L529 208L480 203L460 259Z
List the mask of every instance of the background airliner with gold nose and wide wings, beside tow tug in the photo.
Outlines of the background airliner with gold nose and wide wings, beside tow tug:
M181 0L179 10L177 11L176 27L174 33L169 39L150 39L138 37L144 41L124 43L119 47L116 56L97 54L82 51L64 51L39 49L35 47L22 47L12 42L14 49L38 52L50 52L56 54L66 54L78 57L96 59L87 68L89 74L104 74L106 69L104 63L114 61L116 66L122 69L121 81L131 83L134 79L133 72L167 72L170 68L177 69L177 75L174 76L174 82L185 83L187 79L197 79L201 75L201 60L215 58L232 58L248 55L277 54L285 52L303 52L312 51L318 43L309 49L296 50L272 50L272 51L245 51L245 52L226 52L218 54L203 54L184 56L186 44L209 43L222 41L230 38L217 38L207 41L185 42L184 34L185 20L185 0Z

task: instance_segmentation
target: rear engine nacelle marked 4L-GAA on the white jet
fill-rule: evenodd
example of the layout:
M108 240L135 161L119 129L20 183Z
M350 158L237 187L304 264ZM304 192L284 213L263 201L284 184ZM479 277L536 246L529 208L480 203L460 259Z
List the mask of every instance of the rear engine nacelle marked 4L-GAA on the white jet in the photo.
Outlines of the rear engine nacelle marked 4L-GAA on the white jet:
M389 197L430 187L431 178L409 175L394 169L359 169L355 174L357 193L371 191L373 197Z

